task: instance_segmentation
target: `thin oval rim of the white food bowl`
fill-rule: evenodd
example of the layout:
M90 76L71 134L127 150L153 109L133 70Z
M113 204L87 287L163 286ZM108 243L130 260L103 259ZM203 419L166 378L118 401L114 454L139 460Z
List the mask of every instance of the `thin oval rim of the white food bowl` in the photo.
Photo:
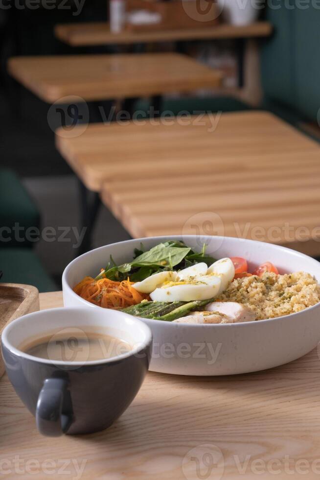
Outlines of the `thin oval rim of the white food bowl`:
M169 239L182 239L183 237L183 240L187 240L187 239L194 239L197 237L197 235L161 235L159 237L141 237L141 238L138 238L138 239L130 239L130 240L122 240L122 241L118 241L118 242L114 242L114 243L108 243L106 245L102 245L100 247L97 247L97 248L94 248L92 250L90 250L89 252L86 252L86 253L83 253L82 255L80 255L79 257L73 259L67 266L66 268L64 269L63 271L63 274L62 274L62 288L63 288L63 291L65 291L65 289L68 290L68 293L71 294L72 297L78 299L79 298L79 295L77 295L73 289L71 288L71 286L69 285L69 282L67 281L67 275L69 273L69 270L72 268L72 266L74 264L76 264L80 258L83 258L85 256L89 256L92 252L96 252L98 250L103 250L104 248L106 248L107 246L112 246L112 245L122 245L122 244L130 244L132 242L137 242L137 241L140 241L140 242L143 242L143 240L169 240ZM204 236L205 237L205 236ZM207 237L210 237L210 235L207 235ZM304 253L301 253L301 252L298 252L297 250L293 250L292 248L288 248L288 247L284 247L282 245L277 245L275 243L270 243L270 242L266 242L266 241L259 241L259 240L251 240L251 239L240 239L240 238L236 238L236 237L222 237L222 236L214 236L215 239L217 239L218 241L219 240L238 240L238 241L243 241L243 242L246 242L246 243L249 243L249 244L266 244L266 245L269 245L270 247L276 249L276 250L280 250L280 251L283 251L284 253L288 253L290 252L291 254L294 254L296 255L297 257L302 257L302 258L306 258L308 259L309 261L311 260L312 262L316 264L319 264L319 270L320 270L320 262L318 262L318 260L312 258L312 257L309 257L308 255L304 254ZM80 297L81 298L81 297ZM88 302L88 300L85 300L84 298L81 298L80 300L81 302L85 303L85 306L84 307L79 307L79 308L86 308L87 305L88 307L90 306L91 308L99 308L99 309L103 309L102 307L100 307L99 305L93 305L92 303ZM66 307L65 307L66 308ZM300 315L301 313L303 312L311 312L317 308L320 308L320 302L316 303L315 305L312 305L311 307L307 307L306 309L304 310L301 310L300 312L294 312L294 313L289 313L288 315L281 315L281 316L278 316L278 317L274 317L274 318L265 318L263 320L254 320L254 321L250 321L250 322L236 322L236 323L214 323L214 324L206 324L206 323L201 323L201 324L179 324L179 323L173 323L173 322L162 322L162 324L166 324L166 325L174 325L174 326L177 326L177 325L184 325L184 328L188 327L188 328L199 328L199 327L202 327L202 328L244 328L245 326L248 326L248 325L257 325L257 324L265 324L266 322L272 322L272 321L276 321L276 320L283 320L284 318L292 318L292 317L296 317L297 315ZM103 309L103 310L112 310L112 309ZM136 317L135 315L130 315L134 318L138 318L140 321L148 321L148 322L151 322L151 325L152 324L155 324L155 325L159 325L159 322L160 320L156 320L154 318L142 318L142 317Z

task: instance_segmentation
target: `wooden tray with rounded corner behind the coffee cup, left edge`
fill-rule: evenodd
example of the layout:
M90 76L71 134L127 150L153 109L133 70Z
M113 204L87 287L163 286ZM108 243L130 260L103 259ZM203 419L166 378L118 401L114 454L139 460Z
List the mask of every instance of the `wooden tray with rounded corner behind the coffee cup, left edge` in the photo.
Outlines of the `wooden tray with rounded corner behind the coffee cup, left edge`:
M0 284L0 334L4 327L15 318L26 313L36 312L39 308L39 291L36 287L13 283ZM3 373L4 363L1 354L0 378Z

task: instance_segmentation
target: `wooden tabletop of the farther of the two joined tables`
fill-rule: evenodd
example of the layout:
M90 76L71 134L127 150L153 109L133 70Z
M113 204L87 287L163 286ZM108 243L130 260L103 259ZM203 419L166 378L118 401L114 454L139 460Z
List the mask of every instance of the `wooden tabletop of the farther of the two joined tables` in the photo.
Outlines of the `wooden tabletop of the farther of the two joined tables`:
M309 152L320 151L289 124L258 111L96 123L74 138L58 129L56 145L92 191L100 191L106 180L240 172L252 164L267 169L270 162L276 173L283 158L285 166L292 162L302 170Z

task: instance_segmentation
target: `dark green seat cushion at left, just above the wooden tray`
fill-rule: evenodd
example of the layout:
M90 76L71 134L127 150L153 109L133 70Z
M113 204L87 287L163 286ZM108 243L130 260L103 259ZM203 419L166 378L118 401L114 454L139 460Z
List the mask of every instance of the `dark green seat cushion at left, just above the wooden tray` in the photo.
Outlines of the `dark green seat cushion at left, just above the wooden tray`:
M31 248L0 248L0 270L0 282L34 285L40 292L57 289Z

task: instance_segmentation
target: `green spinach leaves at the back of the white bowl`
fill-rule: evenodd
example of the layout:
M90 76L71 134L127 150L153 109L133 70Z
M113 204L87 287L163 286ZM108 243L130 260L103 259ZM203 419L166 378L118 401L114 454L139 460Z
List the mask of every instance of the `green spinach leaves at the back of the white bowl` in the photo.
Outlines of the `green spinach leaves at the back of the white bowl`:
M197 253L187 247L182 240L169 240L159 243L150 250L145 251L141 244L140 249L135 249L134 260L130 263L116 265L112 257L106 268L95 278L99 280L102 275L114 281L122 281L129 277L132 282L140 282L153 273L165 270L181 270L187 266L205 262L213 264L215 259L206 255L206 245Z

